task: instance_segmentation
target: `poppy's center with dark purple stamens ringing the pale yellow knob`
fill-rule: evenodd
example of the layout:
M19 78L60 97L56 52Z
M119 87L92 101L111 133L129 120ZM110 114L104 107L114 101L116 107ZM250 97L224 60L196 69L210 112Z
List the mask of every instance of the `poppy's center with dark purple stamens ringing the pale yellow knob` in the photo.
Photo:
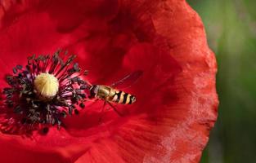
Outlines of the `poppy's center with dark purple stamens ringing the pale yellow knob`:
M89 86L81 77L88 72L81 73L74 58L75 55L67 56L62 51L56 51L52 57L33 55L25 68L17 65L13 74L7 75L5 104L13 108L22 124L60 127L67 114L78 114L84 108L88 98L84 90Z

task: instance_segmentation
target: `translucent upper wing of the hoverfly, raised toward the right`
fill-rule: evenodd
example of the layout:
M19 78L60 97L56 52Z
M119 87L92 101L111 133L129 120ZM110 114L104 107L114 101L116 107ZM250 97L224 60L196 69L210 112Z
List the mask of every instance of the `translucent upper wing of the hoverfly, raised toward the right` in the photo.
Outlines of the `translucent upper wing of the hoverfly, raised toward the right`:
M128 74L128 76L122 78L119 81L116 81L115 83L113 83L112 85L110 85L113 88L119 88L119 89L125 89L128 88L130 86L132 86L132 84L134 84L139 77L141 77L141 75L143 74L142 71L137 70L133 73Z

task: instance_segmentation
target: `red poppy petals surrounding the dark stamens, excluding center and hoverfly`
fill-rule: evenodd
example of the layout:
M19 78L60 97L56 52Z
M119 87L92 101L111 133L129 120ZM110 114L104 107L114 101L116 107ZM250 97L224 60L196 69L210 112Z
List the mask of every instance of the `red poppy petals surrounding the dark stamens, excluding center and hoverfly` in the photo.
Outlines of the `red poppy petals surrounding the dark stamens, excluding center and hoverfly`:
M99 124L98 100L68 116L61 130L1 133L0 162L200 161L217 118L217 68L203 24L185 1L6 0L0 19L1 89L29 55L58 48L78 55L92 84L143 72L125 90L137 103L116 105L124 117L106 106Z

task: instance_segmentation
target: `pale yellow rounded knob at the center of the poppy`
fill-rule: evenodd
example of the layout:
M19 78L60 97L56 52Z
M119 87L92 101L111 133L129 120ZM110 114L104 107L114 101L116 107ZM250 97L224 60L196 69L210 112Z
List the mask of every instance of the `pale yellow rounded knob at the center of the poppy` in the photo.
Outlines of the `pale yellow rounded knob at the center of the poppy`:
M43 98L52 98L59 90L59 81L49 73L40 73L34 79L35 90Z

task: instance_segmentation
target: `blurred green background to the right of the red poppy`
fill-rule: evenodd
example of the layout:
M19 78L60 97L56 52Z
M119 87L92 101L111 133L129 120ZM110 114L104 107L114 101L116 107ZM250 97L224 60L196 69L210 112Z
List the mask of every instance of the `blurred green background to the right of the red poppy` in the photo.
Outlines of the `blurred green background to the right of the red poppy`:
M256 0L187 0L218 59L219 117L201 163L256 162Z

